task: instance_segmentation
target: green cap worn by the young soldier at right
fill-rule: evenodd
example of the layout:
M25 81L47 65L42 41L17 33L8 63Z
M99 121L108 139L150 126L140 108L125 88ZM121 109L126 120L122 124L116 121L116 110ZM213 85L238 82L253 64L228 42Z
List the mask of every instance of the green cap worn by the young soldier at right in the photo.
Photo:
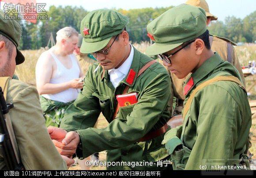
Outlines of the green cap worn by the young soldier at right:
M181 4L164 12L147 25L148 36L155 42L147 55L168 52L186 41L199 37L207 30L202 8Z

